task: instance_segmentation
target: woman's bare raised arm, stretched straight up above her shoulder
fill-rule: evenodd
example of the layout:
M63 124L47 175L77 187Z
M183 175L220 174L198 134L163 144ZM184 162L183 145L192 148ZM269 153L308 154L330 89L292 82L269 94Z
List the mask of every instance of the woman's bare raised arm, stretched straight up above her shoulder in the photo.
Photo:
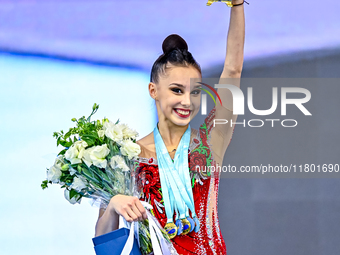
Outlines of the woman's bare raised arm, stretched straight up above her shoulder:
M243 0L233 0L233 4L242 3ZM223 72L220 77L220 84L232 84L240 87L240 78L243 68L245 38L244 4L231 7L229 31L227 37L227 53L224 62ZM218 88L222 104L216 100L215 119L227 120L227 124L217 124L212 131L212 144L214 151L220 160L223 160L225 151L229 146L234 130L237 115L233 115L233 98L229 89Z

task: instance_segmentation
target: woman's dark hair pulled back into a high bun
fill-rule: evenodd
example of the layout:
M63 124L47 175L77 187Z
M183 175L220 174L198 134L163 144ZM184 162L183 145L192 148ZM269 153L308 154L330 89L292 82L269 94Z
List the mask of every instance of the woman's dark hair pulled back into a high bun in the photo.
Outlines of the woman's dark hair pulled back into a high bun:
M172 34L164 39L163 54L158 57L151 69L150 82L158 83L159 75L165 74L168 64L173 66L193 66L201 74L201 67L188 51L188 45L179 35Z

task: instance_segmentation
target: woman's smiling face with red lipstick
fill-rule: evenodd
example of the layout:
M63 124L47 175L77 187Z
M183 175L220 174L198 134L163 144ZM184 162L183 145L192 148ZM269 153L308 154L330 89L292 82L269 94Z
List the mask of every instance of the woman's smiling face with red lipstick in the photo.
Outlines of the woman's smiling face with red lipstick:
M160 75L157 84L149 84L149 92L156 100L158 118L178 126L189 124L200 109L201 87L191 84L190 79L201 80L200 72L192 67L172 66Z

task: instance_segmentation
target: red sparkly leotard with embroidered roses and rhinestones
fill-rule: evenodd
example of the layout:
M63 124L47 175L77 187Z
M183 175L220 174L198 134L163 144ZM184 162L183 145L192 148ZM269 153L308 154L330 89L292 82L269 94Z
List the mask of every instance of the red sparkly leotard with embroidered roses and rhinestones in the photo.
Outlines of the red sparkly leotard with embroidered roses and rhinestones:
M229 117L232 115L232 111L226 108L223 109ZM222 163L221 158L223 158L224 152L218 154L218 152L214 152L212 149L214 144L212 144L211 131L214 129L213 119L215 118L215 112L216 109L214 107L205 118L199 131L192 129L191 132L188 171L192 181L195 211L200 222L200 230L198 233L192 231L187 235L177 235L171 239L178 254L227 254L217 213L219 173L214 172L207 176L207 174L198 170L207 166L216 167L216 163L220 165ZM223 139L228 139L227 146L230 143L232 133L233 129L227 132L229 135L219 133L220 136L223 136ZM221 137L220 139L217 139L218 135L214 137L214 140L220 143ZM225 141L224 144L226 144ZM225 151L226 147L222 147L222 149ZM174 154L171 157L173 158ZM217 162L215 157L218 158ZM200 168L196 168L197 166ZM167 217L162 198L156 153L152 153L141 145L141 153L135 173L140 200L147 201L153 206L152 214L158 219L161 226L164 227Z

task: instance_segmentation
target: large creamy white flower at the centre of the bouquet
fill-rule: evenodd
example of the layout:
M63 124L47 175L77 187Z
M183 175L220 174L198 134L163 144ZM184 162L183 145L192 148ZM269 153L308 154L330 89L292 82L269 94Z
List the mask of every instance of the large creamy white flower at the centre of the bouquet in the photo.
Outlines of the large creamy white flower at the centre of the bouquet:
M106 168L106 156L110 153L107 144L91 147L84 151L83 160L90 167L92 164L97 167Z

